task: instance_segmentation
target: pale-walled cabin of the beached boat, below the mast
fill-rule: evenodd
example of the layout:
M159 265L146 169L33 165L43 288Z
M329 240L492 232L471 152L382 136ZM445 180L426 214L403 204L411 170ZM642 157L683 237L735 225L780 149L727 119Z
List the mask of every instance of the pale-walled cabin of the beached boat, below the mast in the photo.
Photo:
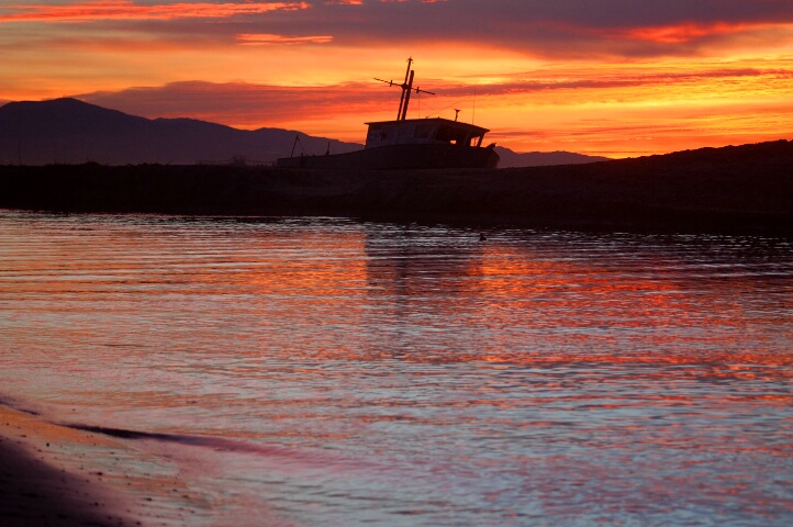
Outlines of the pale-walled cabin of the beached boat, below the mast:
M366 148L405 144L447 144L479 147L488 128L443 117L366 123Z

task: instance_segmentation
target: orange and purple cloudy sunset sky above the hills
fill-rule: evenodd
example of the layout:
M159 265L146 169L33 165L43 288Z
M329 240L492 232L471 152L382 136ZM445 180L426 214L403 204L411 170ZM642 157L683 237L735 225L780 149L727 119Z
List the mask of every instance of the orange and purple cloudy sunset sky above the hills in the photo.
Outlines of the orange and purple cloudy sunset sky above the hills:
M793 0L0 0L0 103L362 143L409 116L516 152L608 157L793 139Z

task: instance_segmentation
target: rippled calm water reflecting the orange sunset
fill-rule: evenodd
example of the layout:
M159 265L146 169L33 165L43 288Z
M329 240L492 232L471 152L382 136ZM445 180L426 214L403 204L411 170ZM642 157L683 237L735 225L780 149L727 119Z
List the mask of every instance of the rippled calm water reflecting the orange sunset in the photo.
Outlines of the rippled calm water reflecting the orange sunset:
M0 395L209 524L793 523L791 243L487 235L0 211Z

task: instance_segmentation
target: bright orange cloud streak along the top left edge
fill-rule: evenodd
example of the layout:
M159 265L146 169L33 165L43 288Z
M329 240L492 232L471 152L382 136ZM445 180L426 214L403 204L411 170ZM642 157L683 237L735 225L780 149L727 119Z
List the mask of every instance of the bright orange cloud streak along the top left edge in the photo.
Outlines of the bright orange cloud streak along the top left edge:
M176 20L189 18L228 18L270 11L309 9L306 2L275 3L168 3L138 5L131 0L78 2L68 5L16 5L0 22L86 22L98 20Z

